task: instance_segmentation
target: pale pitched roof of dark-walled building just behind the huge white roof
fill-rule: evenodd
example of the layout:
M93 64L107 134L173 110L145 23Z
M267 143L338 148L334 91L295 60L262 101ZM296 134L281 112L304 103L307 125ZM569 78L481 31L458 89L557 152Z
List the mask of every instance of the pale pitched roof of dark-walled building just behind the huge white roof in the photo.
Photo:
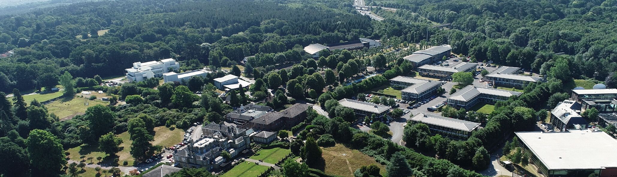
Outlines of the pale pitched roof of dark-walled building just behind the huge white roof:
M555 106L555 109L550 111L550 114L553 114L553 116L560 119L561 122L566 125L587 125L587 121L583 119L582 116L579 114L581 112L580 110L581 104L579 104L578 102L572 100L563 100L559 104L557 104L557 106Z

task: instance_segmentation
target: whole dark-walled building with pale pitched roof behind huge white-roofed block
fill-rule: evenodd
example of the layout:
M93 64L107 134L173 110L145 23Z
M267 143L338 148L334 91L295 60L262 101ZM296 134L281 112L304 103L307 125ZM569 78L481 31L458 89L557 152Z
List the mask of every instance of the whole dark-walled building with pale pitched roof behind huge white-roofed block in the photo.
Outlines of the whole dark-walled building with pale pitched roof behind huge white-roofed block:
M581 104L573 100L563 100L550 111L550 124L561 132L575 128L575 125L587 127L587 120L581 116Z

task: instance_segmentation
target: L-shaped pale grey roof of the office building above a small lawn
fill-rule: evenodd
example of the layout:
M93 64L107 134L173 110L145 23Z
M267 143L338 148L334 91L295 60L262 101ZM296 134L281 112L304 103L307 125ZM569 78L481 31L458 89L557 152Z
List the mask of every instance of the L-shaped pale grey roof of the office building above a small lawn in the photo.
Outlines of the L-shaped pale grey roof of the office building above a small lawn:
M507 96L507 97L510 97L513 95L519 96L523 94L523 92L515 92L515 91L509 91L509 90L492 89L492 88L487 88L487 87L476 87L473 85L467 85L463 89L458 90L458 92L450 95L448 99L459 100L459 101L470 101L476 96L480 95L481 93L488 94L488 95Z

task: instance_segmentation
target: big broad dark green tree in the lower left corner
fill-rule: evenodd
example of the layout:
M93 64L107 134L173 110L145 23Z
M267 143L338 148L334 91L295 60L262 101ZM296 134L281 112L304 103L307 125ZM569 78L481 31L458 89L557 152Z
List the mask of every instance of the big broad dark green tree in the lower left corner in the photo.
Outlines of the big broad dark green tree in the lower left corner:
M32 130L28 134L27 147L30 155L31 173L34 176L59 174L67 163L60 140L45 130Z

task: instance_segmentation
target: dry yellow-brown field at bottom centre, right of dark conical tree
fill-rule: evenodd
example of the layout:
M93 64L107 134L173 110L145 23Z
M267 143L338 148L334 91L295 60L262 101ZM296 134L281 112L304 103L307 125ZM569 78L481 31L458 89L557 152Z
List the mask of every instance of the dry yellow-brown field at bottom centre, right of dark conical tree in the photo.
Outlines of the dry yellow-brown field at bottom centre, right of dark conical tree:
M362 165L375 164L379 167L379 173L382 176L386 175L386 166L375 162L373 157L370 157L358 150L346 148L342 144L336 144L334 147L322 148L323 159L325 160L324 171L328 175L339 176L354 176L354 171L362 167Z

